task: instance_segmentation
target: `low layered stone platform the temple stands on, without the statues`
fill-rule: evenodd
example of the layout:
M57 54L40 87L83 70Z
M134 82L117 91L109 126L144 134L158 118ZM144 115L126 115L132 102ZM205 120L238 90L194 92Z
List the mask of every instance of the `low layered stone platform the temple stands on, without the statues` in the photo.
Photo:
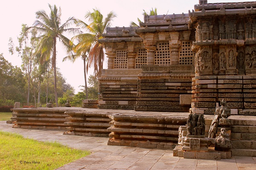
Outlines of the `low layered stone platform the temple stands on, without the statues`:
M13 109L16 128L65 129L64 134L108 136L108 145L170 148L177 144L178 127L189 113L153 112L96 108ZM204 115L206 129L214 115ZM256 156L256 116L232 115L232 155ZM208 136L208 134L205 134Z

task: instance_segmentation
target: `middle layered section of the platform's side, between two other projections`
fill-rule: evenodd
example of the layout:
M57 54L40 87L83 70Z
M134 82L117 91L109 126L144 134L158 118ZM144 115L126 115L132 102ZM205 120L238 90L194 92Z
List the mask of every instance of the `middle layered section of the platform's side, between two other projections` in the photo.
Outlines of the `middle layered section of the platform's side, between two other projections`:
M68 111L64 124L67 132L64 135L108 136L107 128L111 119L108 113L88 113L85 111Z

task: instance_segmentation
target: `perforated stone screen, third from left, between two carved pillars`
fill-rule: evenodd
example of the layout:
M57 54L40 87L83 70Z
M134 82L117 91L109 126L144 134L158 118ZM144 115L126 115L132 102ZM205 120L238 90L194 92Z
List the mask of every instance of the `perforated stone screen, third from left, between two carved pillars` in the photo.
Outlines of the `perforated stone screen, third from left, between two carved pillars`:
M158 42L155 53L155 65L170 65L171 57L169 50L169 42Z

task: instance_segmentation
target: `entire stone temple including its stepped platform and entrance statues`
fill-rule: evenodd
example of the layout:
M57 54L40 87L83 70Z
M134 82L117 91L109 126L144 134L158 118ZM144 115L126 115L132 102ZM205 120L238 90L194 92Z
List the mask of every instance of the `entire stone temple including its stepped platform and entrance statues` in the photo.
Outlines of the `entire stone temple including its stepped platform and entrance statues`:
M16 104L9 123L189 159L256 156L256 1L199 0L188 14L107 28L99 42L108 57L99 100L82 108Z

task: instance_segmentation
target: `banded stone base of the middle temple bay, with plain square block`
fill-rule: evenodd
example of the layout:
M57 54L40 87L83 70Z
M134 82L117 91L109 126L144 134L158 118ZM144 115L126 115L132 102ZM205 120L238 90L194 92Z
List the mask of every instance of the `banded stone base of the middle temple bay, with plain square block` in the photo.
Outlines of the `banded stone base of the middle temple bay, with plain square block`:
M191 66L144 65L138 76L135 111L188 112L191 105ZM179 72L179 73L177 73Z

